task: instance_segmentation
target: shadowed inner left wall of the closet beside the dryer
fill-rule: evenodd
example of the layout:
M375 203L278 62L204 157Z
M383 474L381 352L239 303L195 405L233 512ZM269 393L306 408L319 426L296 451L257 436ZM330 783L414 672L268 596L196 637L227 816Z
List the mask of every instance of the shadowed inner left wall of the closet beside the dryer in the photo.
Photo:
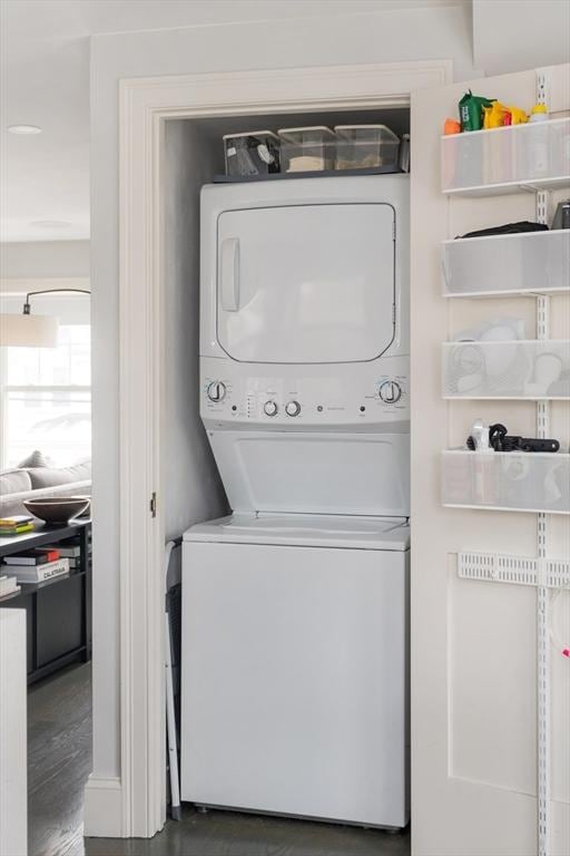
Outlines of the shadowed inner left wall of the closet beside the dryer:
M206 145L205 145L206 144ZM199 417L199 189L219 165L195 123L166 127L165 523L167 539L227 512ZM218 157L219 160L219 157Z

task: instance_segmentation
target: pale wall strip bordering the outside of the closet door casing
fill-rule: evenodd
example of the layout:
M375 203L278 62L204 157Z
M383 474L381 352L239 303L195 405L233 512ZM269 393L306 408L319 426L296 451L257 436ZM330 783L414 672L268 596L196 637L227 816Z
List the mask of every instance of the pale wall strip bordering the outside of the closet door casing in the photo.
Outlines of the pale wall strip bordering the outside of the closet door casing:
M95 776L119 775L118 80L430 58L453 59L456 80L478 76L468 4L391 11L383 11L381 2L357 6L355 14L338 14L337 3L326 3L322 14L313 6L311 17L302 20L106 35L91 41ZM266 8L274 9L271 3ZM351 8L347 2L345 9Z

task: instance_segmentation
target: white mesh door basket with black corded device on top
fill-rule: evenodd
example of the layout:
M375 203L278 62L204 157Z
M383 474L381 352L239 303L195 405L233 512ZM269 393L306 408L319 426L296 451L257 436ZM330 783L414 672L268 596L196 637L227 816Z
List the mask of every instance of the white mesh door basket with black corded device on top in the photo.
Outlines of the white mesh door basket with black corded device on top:
M570 514L570 455L445 450L441 492L445 506Z

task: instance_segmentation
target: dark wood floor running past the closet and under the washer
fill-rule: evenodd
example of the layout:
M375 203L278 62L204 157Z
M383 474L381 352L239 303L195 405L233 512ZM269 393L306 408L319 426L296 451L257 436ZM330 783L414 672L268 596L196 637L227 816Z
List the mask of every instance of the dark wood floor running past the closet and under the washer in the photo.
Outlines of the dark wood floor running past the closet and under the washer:
M82 838L91 769L90 667L30 691L30 856L409 856L410 835L185 806L151 840Z

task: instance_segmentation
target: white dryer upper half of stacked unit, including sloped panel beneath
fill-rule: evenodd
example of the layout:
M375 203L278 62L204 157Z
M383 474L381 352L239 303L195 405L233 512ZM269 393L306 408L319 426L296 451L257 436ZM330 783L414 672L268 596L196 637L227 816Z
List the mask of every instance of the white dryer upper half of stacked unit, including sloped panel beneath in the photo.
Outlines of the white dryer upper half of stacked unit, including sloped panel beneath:
M200 414L235 512L409 514L409 176L202 195Z

